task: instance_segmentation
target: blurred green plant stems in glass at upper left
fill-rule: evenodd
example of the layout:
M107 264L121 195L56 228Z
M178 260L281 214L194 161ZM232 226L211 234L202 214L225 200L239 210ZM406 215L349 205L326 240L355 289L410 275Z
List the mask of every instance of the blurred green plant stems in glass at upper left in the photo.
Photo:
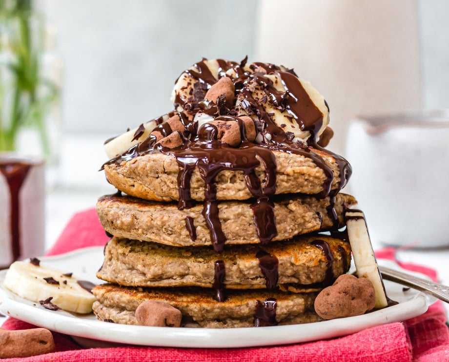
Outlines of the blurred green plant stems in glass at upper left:
M0 0L0 151L14 151L18 133L35 128L45 155L45 120L58 87L42 76L44 23L31 0Z

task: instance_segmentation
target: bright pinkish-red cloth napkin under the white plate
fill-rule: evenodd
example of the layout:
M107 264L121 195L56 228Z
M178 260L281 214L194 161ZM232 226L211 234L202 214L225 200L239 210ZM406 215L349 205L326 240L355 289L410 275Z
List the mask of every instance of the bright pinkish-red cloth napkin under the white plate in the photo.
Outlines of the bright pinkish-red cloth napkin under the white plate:
M105 235L94 209L79 212L70 220L47 255L77 248L104 245ZM394 260L394 249L376 253L378 258ZM434 270L411 264L401 264L436 280ZM82 349L69 336L53 333L56 352L24 359L3 361L449 361L449 330L440 301L421 316L403 323L384 324L349 336L326 341L275 347L194 349L122 346ZM26 329L33 326L9 318L4 329Z

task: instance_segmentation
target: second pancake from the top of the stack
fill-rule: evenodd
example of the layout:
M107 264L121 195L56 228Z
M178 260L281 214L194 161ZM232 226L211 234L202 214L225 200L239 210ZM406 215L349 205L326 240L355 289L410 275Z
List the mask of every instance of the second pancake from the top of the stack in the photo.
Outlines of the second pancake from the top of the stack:
M344 210L356 204L354 197L339 193L334 208L340 224ZM206 246L211 241L210 226L202 204L179 210L174 203L155 203L129 196L103 196L97 212L103 228L121 238L152 241L178 247ZM221 229L228 244L258 244L259 230L249 202L227 201L218 204ZM335 227L329 197L319 200L287 195L274 202L277 235L272 241L291 239L298 234ZM187 224L186 224L187 223Z

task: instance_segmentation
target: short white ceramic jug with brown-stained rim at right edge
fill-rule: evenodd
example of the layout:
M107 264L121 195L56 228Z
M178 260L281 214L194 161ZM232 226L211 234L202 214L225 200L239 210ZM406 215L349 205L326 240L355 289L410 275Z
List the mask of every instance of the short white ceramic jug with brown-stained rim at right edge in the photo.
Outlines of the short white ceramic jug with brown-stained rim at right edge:
M359 116L346 156L373 241L449 245L449 110Z

